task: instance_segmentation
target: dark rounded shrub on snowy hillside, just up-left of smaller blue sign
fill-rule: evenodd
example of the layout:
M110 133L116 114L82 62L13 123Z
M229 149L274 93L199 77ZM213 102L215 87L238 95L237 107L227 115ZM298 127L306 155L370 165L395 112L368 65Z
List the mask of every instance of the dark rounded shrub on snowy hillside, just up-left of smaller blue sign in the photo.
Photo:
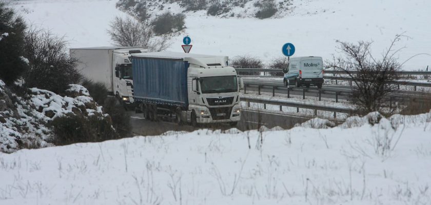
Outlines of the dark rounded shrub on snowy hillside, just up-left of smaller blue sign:
M178 32L185 28L185 18L182 13L172 14L168 11L156 17L151 25L154 33L158 35Z

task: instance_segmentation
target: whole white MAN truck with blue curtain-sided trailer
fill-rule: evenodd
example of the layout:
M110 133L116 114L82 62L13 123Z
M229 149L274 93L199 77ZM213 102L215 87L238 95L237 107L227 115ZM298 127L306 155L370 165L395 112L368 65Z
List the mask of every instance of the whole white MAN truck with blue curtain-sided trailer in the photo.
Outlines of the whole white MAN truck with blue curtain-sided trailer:
M133 53L134 101L146 118L175 116L179 124L241 119L243 86L227 56L176 52Z

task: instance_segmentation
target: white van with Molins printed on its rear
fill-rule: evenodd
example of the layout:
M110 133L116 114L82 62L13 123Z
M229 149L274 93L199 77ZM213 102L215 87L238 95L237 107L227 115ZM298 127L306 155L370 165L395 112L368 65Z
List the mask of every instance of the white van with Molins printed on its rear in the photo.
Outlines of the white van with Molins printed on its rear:
M323 60L322 57L292 57L284 72L284 85L296 85L301 87L310 85L322 88L323 84Z

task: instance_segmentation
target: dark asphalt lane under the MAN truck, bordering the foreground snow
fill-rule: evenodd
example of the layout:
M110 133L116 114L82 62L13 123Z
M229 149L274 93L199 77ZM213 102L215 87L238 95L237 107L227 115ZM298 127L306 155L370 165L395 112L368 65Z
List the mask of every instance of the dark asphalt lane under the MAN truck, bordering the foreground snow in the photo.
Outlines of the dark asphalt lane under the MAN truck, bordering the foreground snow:
M193 128L192 126L189 126L189 125L179 126L175 122L172 122L170 119L163 119L158 122L154 122L154 121L145 119L144 115L141 113L138 113L138 114L135 114L134 112L129 112L129 113L131 115L133 135L152 136L152 135L160 135L167 131L191 132L193 130L199 129L199 128ZM289 129L295 126L297 123L302 123L308 119L309 118L306 118L306 117L242 110L241 121L238 123L237 128L239 130L245 131L245 130L258 129L260 126L263 125L267 128L280 126L284 129ZM232 127L229 126L228 124L215 124L215 125L209 124L209 125L203 125L200 128L227 130Z

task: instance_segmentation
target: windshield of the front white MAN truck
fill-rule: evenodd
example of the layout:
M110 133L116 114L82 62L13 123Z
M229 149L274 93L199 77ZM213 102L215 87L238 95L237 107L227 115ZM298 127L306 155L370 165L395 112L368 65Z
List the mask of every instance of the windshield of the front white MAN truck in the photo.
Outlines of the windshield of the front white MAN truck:
M201 77L202 93L229 93L238 91L236 75Z

